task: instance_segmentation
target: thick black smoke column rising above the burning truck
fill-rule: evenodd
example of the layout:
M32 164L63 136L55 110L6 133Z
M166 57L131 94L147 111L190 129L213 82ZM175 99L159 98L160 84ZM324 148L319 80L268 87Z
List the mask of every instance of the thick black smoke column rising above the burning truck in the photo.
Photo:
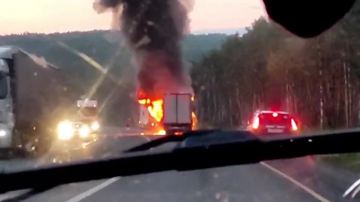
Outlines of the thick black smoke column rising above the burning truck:
M139 87L150 99L164 92L192 92L180 42L189 29L193 0L96 0L98 12L110 10L113 26L126 37L138 62Z

